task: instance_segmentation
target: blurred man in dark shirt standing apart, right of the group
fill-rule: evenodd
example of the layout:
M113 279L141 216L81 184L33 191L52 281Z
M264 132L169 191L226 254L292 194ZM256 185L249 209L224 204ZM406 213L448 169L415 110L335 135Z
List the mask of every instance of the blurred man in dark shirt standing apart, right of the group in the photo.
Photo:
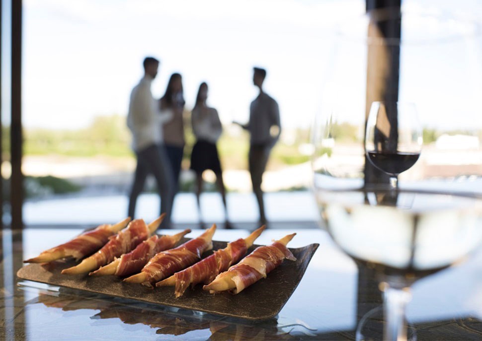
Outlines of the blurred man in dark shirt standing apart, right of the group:
M258 87L259 95L251 102L249 107L249 122L244 125L234 122L250 134L249 173L251 174L253 192L259 206L260 224L267 223L264 212L263 191L261 190L263 173L266 169L271 149L276 144L281 133L278 103L263 91L265 78L266 70L264 68L253 68L253 84Z

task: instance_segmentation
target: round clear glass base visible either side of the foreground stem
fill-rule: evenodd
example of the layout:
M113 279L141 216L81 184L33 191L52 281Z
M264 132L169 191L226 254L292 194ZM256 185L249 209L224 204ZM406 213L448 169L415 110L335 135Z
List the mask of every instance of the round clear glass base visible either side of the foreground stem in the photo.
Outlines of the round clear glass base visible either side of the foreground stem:
M383 314L383 306L374 308L363 315L356 328L356 341L383 341L383 330L386 322ZM416 341L415 328L408 325L407 341Z

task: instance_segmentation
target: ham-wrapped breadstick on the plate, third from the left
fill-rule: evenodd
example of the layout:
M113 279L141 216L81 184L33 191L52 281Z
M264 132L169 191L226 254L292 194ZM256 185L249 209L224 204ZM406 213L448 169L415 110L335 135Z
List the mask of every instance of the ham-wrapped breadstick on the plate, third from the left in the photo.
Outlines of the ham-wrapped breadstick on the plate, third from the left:
M158 235L154 235L148 240L143 241L131 252L123 254L112 263L100 267L98 270L89 274L96 276L107 274L127 276L133 273L139 273L155 254L172 249L179 240L189 232L191 232L191 230L186 229L172 236L166 235L159 237Z

